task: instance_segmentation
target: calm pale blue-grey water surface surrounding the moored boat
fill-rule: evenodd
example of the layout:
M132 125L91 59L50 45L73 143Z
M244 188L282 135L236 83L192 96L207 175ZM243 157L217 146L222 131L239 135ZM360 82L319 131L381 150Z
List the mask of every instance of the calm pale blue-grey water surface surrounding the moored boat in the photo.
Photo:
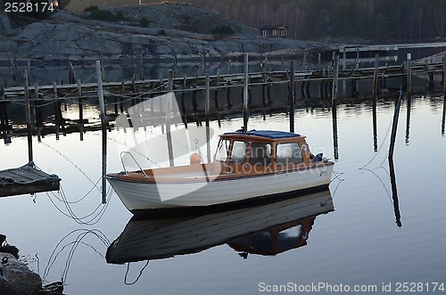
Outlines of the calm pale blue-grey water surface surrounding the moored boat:
M384 293L383 283L392 283L392 291L397 283L428 283L432 291L432 283L446 284L442 109L442 98L415 98L407 138L407 103L401 105L393 160L401 227L395 220L387 162L393 103L378 102L377 152L371 105L338 106L339 160L330 184L335 210L314 219L306 245L297 249L276 256L249 254L244 259L223 243L194 254L151 260L146 267L145 261L107 264L107 247L131 214L114 193L101 205L101 193L95 188L101 176L100 132L87 133L82 142L78 134L35 141L37 166L62 178L63 194L0 199L0 232L47 282L62 278L68 295L256 294L262 286L287 283L371 285L377 288L368 291L373 294ZM308 136L312 152L333 159L332 111L298 110L295 118L296 131ZM249 127L287 130L288 124L285 114L277 114L266 120L252 116ZM242 125L242 119L224 120L221 127L211 123L216 134ZM144 136L159 133L159 128L139 131ZM126 143L120 140L121 131L107 135L107 169L121 170L118 151ZM21 166L28 159L26 138L13 138L12 144L0 146L0 152L0 168ZM57 199L62 197L67 200ZM127 284L143 268L136 283Z

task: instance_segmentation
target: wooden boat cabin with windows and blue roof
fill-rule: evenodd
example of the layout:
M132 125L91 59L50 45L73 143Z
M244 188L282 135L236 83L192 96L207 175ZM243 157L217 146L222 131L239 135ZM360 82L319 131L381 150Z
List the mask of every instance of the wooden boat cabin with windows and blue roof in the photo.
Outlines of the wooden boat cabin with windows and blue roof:
M271 130L220 135L215 154L215 161L223 166L222 172L245 174L306 168L316 165L321 158L311 154L305 136Z

